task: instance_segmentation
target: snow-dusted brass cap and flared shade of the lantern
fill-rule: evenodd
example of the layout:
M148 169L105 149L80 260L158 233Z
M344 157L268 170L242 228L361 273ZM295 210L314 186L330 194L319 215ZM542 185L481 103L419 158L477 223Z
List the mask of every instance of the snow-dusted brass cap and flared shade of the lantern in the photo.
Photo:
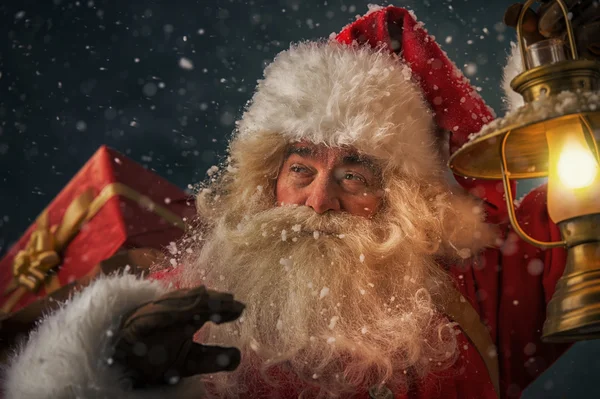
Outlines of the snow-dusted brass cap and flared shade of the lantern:
M576 64L576 65L573 65ZM540 66L518 75L511 87L523 95L526 105L483 128L450 158L454 173L478 179L502 179L501 146L506 138L507 168L512 179L548 176L546 131L560 119L580 119L585 129L600 137L600 64L595 61L563 61ZM572 94L570 111L547 110L556 106L562 92ZM566 96L565 96L566 97ZM596 98L596 99L595 99ZM590 107L591 106L591 107ZM536 113L536 108L538 112ZM556 111L556 112L555 112Z

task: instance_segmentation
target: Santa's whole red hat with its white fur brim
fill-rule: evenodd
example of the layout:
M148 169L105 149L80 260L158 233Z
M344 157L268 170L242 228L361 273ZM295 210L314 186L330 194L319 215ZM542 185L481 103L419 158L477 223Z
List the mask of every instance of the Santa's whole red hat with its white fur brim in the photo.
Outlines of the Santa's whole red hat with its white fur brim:
M390 36L391 24L399 27L397 37ZM389 6L329 41L278 54L238 123L238 137L279 133L291 141L352 145L427 179L440 171L441 130L450 133L453 152L493 118L414 14ZM501 183L457 180L485 200L488 221L505 218Z

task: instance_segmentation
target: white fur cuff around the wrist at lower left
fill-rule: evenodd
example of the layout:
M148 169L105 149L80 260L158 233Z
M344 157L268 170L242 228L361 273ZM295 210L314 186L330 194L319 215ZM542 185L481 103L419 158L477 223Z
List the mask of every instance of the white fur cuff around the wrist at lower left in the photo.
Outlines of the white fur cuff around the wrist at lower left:
M119 367L107 362L111 332L121 316L164 292L160 283L132 275L99 278L46 317L19 348L4 372L4 398L185 397L180 391L187 384L165 390L124 390Z

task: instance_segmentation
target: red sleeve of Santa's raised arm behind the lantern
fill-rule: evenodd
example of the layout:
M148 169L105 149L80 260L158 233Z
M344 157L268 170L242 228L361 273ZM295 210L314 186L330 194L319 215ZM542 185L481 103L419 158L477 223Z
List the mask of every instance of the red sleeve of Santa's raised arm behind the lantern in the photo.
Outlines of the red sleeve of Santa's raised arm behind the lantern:
M542 241L560 240L546 207L546 186L533 190L517 207L521 228ZM512 396L544 372L570 346L541 340L546 306L566 261L563 248L542 250L510 231L502 248L498 345L502 383Z

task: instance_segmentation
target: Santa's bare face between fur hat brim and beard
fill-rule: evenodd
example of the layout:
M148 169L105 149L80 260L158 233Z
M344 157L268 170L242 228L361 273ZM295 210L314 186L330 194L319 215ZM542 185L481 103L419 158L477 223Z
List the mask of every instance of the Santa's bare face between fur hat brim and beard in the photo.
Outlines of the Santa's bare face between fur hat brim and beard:
M308 142L290 146L275 189L278 205L368 218L380 208L382 194L381 172L370 158L352 148Z

